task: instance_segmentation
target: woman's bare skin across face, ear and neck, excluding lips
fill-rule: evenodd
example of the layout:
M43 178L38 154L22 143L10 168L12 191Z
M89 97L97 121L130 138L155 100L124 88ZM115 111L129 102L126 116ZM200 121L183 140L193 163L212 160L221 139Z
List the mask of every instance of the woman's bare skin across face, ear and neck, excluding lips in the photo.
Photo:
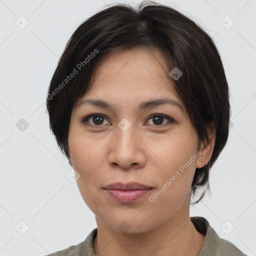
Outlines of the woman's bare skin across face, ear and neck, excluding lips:
M196 130L166 77L169 71L160 52L152 55L143 47L114 52L96 69L91 90L77 101L101 99L113 108L85 103L72 110L68 151L81 196L95 214L98 230L93 250L99 256L196 256L202 247L205 237L189 217L189 192L195 168L211 157L215 131L209 130L210 143L197 150ZM138 110L142 101L158 98L178 101L183 111L171 104ZM103 115L100 125L92 117L82 123L89 114ZM174 122L163 116L158 124L152 114L169 116ZM128 120L125 125L130 124L126 131L118 126L123 118ZM189 167L150 201L149 196L191 157ZM129 203L114 200L103 189L130 181L152 189ZM123 221L128 224L126 231L119 228Z

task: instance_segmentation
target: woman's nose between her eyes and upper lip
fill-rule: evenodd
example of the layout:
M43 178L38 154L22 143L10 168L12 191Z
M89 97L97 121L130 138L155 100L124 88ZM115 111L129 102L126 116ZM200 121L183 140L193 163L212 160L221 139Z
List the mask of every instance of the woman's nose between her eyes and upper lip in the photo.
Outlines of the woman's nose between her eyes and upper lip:
M134 169L145 165L146 146L134 125L127 121L116 127L109 150L108 163L115 168Z

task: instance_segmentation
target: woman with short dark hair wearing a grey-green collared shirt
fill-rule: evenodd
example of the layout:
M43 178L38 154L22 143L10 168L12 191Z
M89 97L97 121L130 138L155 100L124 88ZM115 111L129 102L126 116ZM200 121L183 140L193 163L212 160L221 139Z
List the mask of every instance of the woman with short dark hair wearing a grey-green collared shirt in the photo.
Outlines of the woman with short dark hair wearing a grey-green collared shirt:
M219 53L192 20L155 2L94 14L66 45L47 110L97 223L51 255L245 255L189 217L230 115Z

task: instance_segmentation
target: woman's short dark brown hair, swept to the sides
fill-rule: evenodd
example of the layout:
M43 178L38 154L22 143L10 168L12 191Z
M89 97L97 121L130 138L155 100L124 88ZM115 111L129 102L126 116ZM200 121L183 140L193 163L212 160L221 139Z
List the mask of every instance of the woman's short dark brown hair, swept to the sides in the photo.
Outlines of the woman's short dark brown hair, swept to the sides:
M190 196L204 188L196 203L209 189L209 169L227 141L229 91L213 39L179 11L154 1L143 1L136 8L116 3L83 21L68 40L50 81L46 102L50 129L69 159L71 111L93 85L96 66L107 53L138 46L159 50L169 71L174 67L182 71L177 80L168 76L197 131L198 145L209 142L207 128L216 130L212 156L196 168L191 184Z

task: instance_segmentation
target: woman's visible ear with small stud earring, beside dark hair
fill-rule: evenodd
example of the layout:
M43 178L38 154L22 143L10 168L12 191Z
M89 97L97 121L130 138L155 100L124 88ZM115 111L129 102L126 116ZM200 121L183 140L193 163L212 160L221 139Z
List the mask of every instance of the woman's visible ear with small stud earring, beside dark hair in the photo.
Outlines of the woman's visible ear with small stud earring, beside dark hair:
M215 143L215 129L207 129L207 134L209 138L208 141L204 141L204 143L201 143L200 146L200 156L196 159L196 168L201 168L205 166L208 161L210 160L210 157L213 152L214 143ZM202 164L204 162L204 164Z

